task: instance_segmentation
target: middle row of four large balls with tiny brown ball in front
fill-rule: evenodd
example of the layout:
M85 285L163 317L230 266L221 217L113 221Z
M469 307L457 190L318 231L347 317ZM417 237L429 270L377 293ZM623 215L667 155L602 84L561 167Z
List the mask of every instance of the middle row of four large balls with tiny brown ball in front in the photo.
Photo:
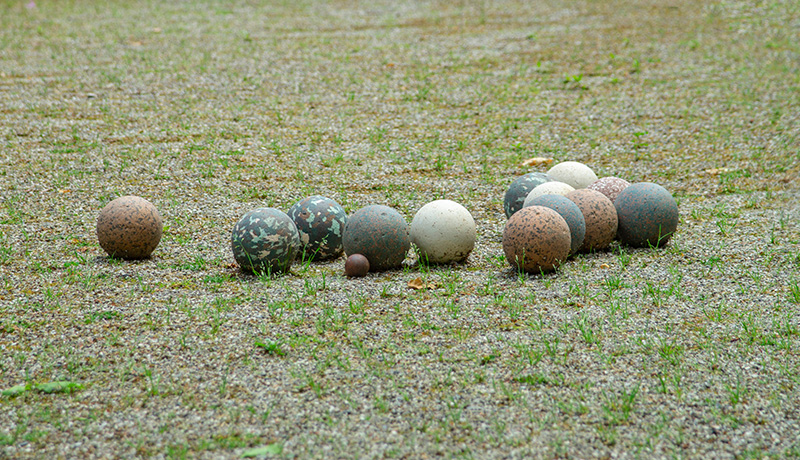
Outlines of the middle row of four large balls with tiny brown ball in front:
M350 216L336 201L311 196L287 214L260 208L233 228L236 262L252 272L285 272L298 254L304 260L335 259L345 253L347 276L400 267L411 249L429 263L462 262L475 246L475 221L450 200L432 201L417 211L409 226L395 209L365 206Z

